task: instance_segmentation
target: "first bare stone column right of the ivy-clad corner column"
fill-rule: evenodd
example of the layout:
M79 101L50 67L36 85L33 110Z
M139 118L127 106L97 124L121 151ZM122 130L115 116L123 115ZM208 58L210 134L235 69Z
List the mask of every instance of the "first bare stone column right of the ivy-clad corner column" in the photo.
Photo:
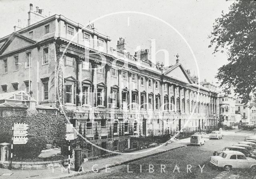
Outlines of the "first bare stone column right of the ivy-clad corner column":
M76 106L82 106L82 62L83 62L83 57L78 56L76 58L76 80L77 85L76 85Z

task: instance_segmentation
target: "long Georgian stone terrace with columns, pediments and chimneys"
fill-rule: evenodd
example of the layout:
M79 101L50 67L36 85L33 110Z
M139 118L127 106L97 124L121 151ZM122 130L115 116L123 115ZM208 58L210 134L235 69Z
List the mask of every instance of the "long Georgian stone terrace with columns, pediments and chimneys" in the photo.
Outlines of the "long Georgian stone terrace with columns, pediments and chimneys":
M172 66L153 64L148 50L132 56L122 38L110 48L93 24L46 17L32 4L28 26L18 29L0 39L1 90L25 90L40 105L76 111L73 125L102 147L217 124L216 87L192 79L178 56Z

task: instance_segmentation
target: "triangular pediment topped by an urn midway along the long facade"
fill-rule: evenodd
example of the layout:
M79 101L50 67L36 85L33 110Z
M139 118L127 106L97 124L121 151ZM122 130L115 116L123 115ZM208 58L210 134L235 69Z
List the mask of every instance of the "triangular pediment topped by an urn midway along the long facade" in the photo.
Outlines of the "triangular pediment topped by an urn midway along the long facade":
M165 75L171 78L175 78L176 80L192 84L190 78L186 74L181 64L177 64L176 66L168 69Z

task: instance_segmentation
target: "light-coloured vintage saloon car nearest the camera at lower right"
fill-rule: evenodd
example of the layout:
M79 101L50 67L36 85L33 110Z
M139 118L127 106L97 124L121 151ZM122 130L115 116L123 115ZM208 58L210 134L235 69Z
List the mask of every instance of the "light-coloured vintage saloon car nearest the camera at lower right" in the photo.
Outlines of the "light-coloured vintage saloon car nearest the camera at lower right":
M256 171L256 160L246 157L239 151L223 151L218 156L212 156L210 159L212 166L230 169L252 169Z

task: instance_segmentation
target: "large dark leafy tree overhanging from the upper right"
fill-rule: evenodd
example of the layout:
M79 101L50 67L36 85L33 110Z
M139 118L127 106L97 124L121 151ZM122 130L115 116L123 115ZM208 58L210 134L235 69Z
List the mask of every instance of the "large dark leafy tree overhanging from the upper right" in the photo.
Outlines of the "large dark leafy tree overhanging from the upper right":
M228 54L228 64L216 76L220 86L227 94L232 88L243 103L256 97L256 1L235 1L215 20L209 38L213 53L226 49Z

